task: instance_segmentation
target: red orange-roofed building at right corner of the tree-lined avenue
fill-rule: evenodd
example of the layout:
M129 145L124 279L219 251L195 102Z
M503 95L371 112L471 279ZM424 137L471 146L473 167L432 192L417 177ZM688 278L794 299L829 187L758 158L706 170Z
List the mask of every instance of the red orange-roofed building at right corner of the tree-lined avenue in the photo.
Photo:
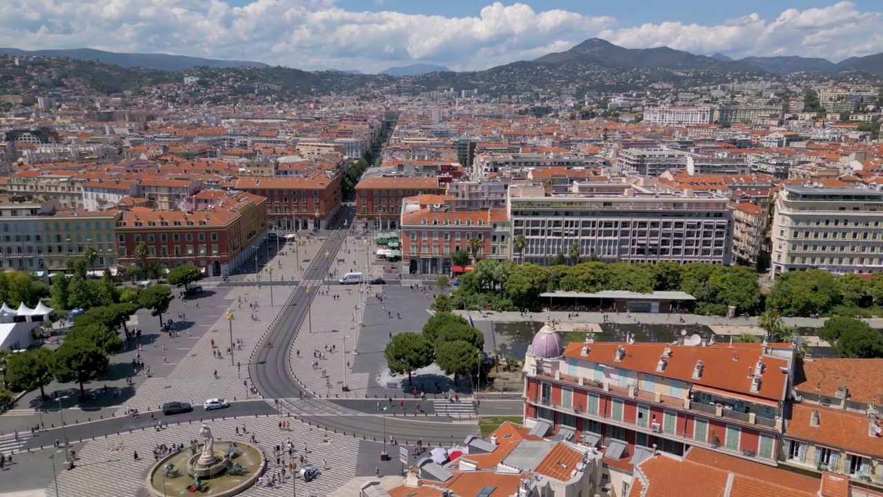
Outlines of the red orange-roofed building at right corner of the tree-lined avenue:
M396 229L404 198L444 193L437 177L371 176L356 185L356 220L378 229Z

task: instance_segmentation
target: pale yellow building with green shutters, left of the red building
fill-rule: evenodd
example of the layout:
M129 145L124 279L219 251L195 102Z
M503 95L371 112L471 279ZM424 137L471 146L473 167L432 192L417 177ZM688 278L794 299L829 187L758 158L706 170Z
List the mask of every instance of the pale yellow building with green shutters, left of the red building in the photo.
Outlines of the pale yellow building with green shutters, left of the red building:
M66 271L67 262L93 247L98 253L94 271L117 268L117 223L121 210L63 210L42 222L42 248L49 271Z

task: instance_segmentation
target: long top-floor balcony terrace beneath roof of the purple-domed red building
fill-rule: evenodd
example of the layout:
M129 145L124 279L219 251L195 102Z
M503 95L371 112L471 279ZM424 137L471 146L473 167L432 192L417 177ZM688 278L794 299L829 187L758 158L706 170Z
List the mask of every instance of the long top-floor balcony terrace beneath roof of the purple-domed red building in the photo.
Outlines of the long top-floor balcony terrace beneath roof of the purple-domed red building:
M735 422L735 424L743 424L745 426L750 426L754 428L758 427L759 425L766 427L769 431L777 433L781 432L781 430L777 428L776 421L774 419L759 417L752 414L734 411L732 409L723 409L722 407L716 405L710 405L707 403L704 404L687 399L678 399L675 397L670 397L668 395L652 394L643 390L634 389L630 386L619 386L611 384L605 386L605 384L601 381L588 378L577 378L575 376L563 374L560 371L537 372L534 377L543 381L549 381L563 386L577 386L597 394L613 395L615 397L620 397L623 400L638 401L647 405L661 405L662 407L664 407L664 409L675 410L678 412L684 412L694 415L701 413L702 415L709 417L726 417L728 422L730 423Z

